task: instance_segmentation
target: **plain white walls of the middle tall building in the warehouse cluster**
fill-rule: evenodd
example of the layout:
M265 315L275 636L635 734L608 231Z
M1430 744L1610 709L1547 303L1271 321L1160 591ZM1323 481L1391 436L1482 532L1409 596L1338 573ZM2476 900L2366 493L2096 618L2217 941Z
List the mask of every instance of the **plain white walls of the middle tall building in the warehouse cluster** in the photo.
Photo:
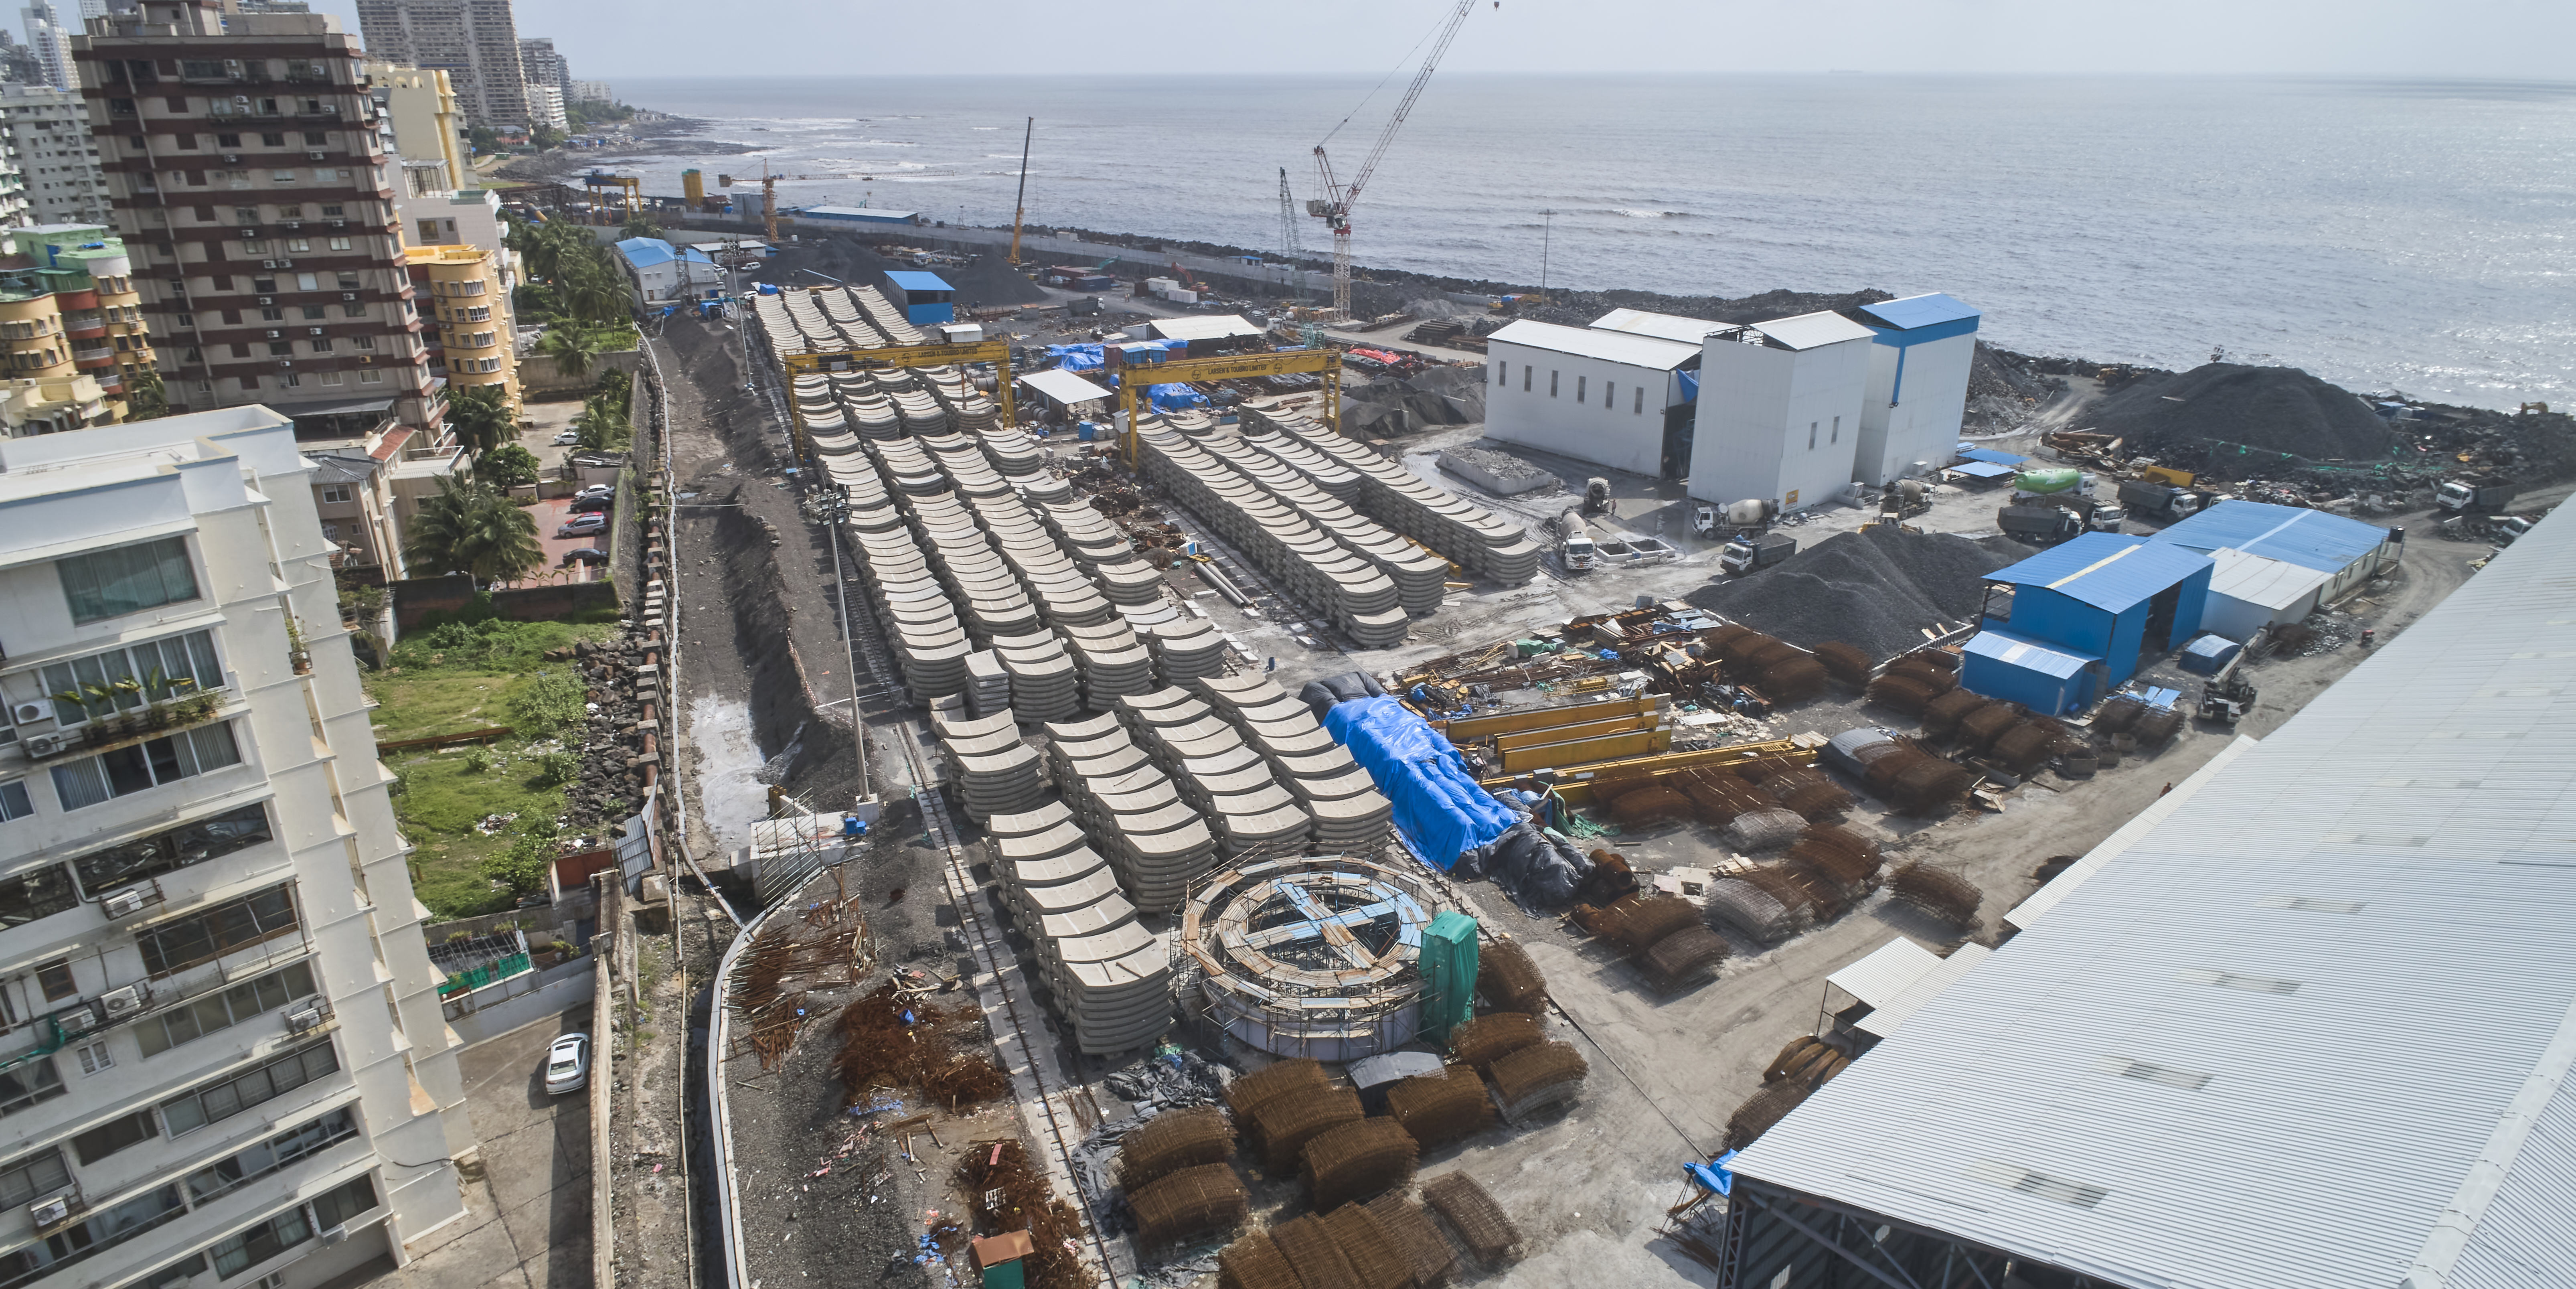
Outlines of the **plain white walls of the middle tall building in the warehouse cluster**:
M1790 351L1734 335L1710 335L1700 358L1690 495L1713 503L1770 498L1783 510L1839 498L1860 446L1870 340Z

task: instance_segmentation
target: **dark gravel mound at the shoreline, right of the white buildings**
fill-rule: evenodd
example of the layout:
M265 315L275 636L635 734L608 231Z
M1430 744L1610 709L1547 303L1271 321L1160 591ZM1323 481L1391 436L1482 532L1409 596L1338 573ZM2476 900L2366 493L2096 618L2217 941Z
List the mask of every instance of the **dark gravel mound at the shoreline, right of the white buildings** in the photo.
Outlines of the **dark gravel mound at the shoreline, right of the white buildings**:
M2089 428L2130 454L2244 477L2300 461L2383 461L2398 436L2367 402L2295 366L2202 363L2105 397Z

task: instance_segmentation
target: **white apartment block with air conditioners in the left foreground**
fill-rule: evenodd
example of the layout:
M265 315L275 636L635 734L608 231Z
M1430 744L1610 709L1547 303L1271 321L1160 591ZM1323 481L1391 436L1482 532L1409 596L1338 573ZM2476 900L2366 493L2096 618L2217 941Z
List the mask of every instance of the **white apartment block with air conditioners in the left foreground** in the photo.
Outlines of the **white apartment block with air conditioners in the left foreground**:
M0 1279L312 1289L471 1124L296 428L0 441Z

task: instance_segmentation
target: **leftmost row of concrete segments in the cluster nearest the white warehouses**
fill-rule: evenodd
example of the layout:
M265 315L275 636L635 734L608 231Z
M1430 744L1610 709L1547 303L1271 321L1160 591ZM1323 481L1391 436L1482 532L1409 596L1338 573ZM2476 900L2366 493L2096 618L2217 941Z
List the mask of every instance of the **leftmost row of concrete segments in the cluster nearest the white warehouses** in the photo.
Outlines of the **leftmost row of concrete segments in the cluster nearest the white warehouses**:
M1293 598L1324 611L1363 650L1404 644L1412 619L1394 577L1159 418L1139 418L1139 441L1146 477L1270 570Z

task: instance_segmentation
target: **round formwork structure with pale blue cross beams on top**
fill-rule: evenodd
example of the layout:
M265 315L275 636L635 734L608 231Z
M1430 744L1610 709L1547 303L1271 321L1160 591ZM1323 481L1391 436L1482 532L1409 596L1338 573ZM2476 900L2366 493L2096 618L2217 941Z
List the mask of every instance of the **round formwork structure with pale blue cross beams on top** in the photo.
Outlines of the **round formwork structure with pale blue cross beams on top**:
M1208 1018L1275 1057L1394 1052L1422 1023L1430 887L1355 856L1296 856L1211 874L1180 923Z

